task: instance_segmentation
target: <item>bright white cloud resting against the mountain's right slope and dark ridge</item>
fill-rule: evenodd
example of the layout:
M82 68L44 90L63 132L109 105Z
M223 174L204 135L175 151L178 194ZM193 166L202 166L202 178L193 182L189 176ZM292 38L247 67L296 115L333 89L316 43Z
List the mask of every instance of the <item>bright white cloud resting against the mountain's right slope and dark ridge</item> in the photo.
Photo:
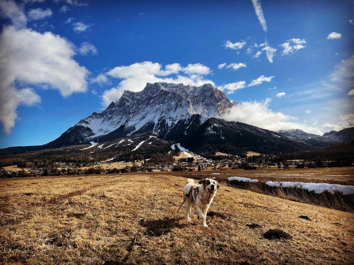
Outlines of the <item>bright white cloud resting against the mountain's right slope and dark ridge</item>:
M322 135L322 131L297 121L296 117L275 112L269 108L270 99L263 101L243 101L234 106L223 118L229 121L243 122L260 128L279 131L301 129L308 133Z

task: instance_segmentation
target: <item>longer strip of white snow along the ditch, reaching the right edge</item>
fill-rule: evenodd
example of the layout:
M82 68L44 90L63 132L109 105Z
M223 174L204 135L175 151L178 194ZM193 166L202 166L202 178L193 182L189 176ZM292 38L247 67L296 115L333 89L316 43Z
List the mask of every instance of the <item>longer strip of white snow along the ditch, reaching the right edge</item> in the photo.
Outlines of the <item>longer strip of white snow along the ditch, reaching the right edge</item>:
M265 183L270 187L280 187L280 188L299 188L305 189L309 192L322 193L327 190L329 193L339 192L343 195L351 195L354 194L354 186L345 186L339 184L328 184L328 183L303 183L303 182L289 182L289 181L281 181L281 182L273 182L267 181Z

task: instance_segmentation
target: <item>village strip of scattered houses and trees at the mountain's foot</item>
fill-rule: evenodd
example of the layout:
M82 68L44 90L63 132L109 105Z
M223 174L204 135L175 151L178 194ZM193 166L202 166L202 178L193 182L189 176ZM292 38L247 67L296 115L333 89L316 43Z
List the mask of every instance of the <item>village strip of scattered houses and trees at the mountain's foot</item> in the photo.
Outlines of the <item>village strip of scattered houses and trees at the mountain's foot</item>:
M178 154L178 153L177 153ZM173 156L169 163L149 163L149 159L133 161L115 161L110 158L105 161L82 163L55 162L49 167L21 168L5 166L0 168L0 177L36 177L36 176L72 176L92 174L117 174L130 172L161 172L161 171L201 171L201 170L257 170L280 168L318 168L327 167L331 161L320 163L305 159L275 162L275 156L247 152L244 158L218 152L216 159L207 159L192 152L180 152Z

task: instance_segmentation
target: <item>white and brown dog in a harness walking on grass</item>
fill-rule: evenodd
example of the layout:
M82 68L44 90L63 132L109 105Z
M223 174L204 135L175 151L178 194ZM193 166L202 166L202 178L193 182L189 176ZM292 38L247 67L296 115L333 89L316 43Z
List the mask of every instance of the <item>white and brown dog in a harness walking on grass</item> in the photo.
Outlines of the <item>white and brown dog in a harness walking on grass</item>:
M217 181L211 178L199 181L199 185L196 184L193 179L188 178L183 188L182 196L182 199L184 200L186 197L185 195L189 194L188 198L184 201L185 219L190 221L189 214L192 211L191 207L193 206L198 215L198 219L202 219L203 226L208 227L205 222L206 214L216 195L216 189L219 186L220 185Z

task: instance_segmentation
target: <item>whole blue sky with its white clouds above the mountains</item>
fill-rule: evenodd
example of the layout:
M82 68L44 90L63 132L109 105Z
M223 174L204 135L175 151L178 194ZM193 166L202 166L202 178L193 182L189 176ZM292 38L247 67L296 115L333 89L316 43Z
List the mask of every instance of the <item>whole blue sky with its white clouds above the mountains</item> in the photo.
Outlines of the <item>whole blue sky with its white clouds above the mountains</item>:
M54 140L155 79L212 82L240 105L228 120L317 134L353 126L353 7L0 0L0 147Z

